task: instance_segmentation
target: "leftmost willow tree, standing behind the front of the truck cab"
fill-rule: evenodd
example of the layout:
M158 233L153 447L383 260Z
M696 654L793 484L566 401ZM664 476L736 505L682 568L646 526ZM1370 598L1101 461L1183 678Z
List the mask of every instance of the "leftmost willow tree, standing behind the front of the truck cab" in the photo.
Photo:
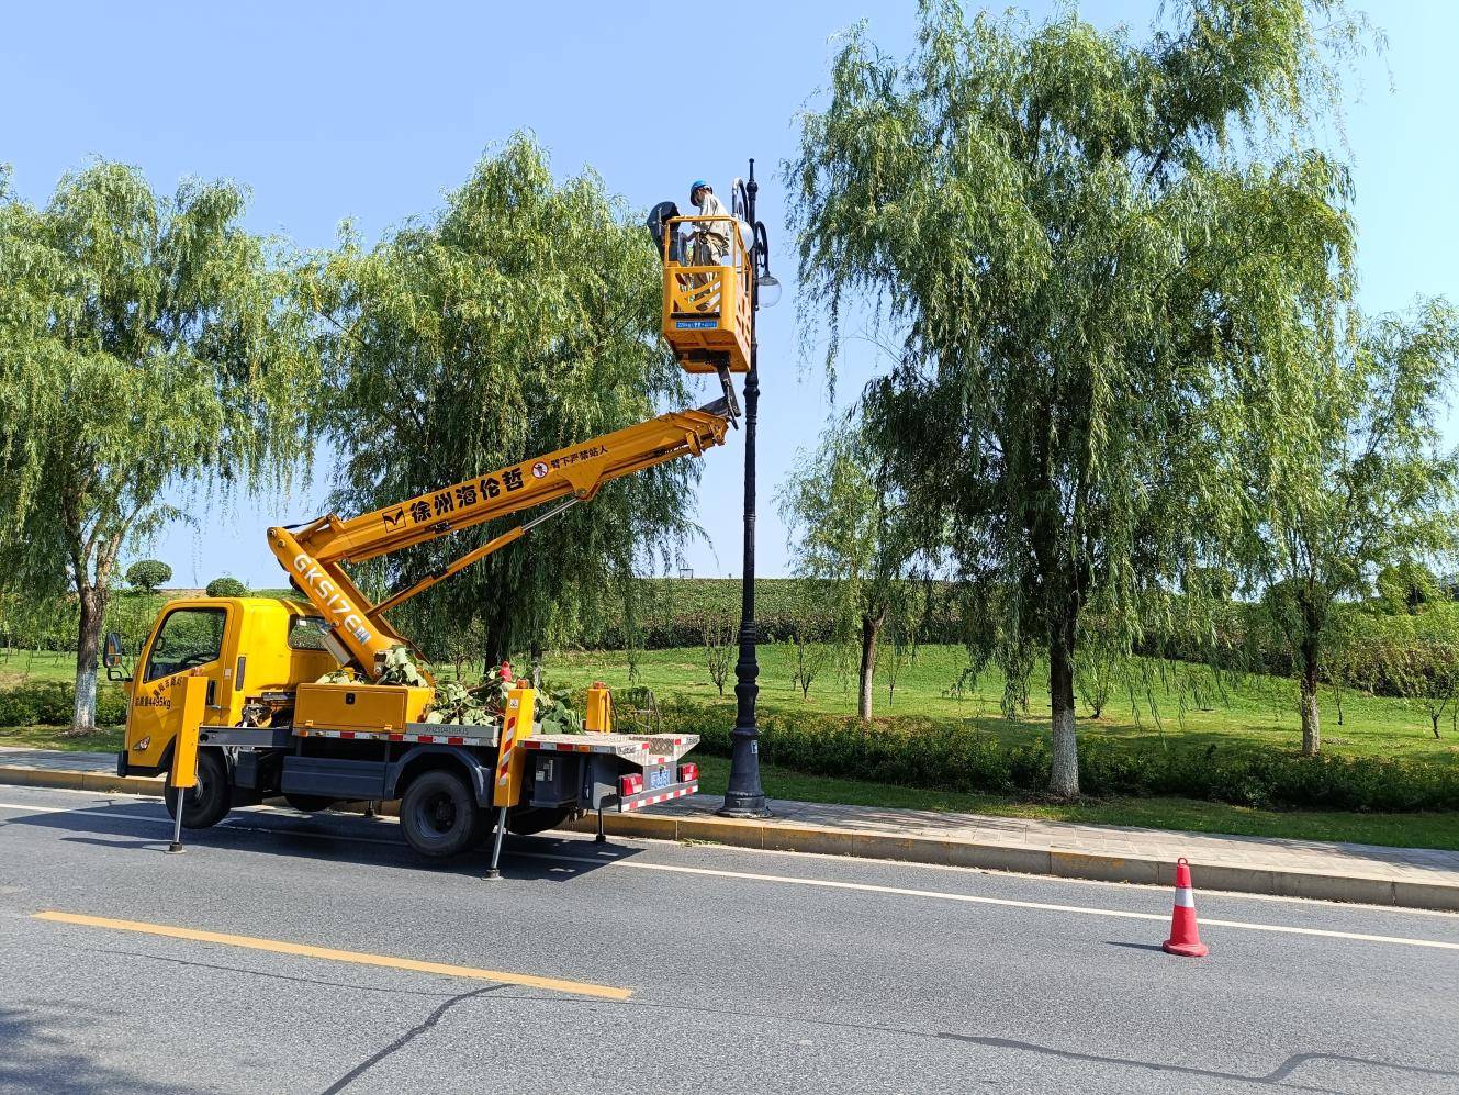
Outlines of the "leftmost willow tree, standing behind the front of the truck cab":
M0 587L74 594L80 731L127 542L179 492L263 485L306 453L317 369L244 207L231 182L165 196L108 162L44 207L0 193Z

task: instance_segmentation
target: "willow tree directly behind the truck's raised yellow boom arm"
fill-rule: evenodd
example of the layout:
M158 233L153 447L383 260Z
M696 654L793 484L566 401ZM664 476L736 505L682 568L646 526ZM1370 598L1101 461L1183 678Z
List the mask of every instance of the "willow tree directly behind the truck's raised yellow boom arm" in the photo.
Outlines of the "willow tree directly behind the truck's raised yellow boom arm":
M340 451L333 504L375 508L689 402L658 340L648 232L592 174L554 182L516 136L438 213L312 270ZM712 457L711 457L712 458ZM439 657L464 629L487 660L573 641L633 607L635 568L693 527L689 461L610 483L525 540L392 613ZM363 568L411 583L521 517Z

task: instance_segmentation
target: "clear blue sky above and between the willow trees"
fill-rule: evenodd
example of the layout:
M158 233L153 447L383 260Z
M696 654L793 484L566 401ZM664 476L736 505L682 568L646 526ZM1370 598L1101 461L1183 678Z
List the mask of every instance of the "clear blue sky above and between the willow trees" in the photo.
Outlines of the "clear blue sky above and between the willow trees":
M1050 4L1029 6L1042 15ZM1156 6L1080 7L1097 25L1138 31ZM1459 299L1459 4L1369 9L1389 50L1386 64L1363 66L1348 104L1363 304ZM730 13L748 29L716 22ZM785 299L762 320L759 552L760 572L773 575L786 562L773 489L829 412L818 361L798 356L776 165L794 152L797 110L826 80L833 35L867 18L900 53L913 16L912 0L18 3L0 41L0 162L13 165L16 190L32 201L92 155L136 164L162 188L187 174L231 177L254 191L252 228L322 247L346 216L374 239L433 209L483 149L518 127L537 133L559 175L591 165L638 206L680 200L696 177L724 194L756 156L760 213L786 282ZM702 44L728 51L715 66L724 76L697 76ZM732 86L730 74L744 83ZM854 343L840 399L877 366L870 347ZM738 574L741 466L738 434L705 461L699 520L709 539L687 552L699 575ZM317 482L328 472L320 466ZM152 552L178 584L225 571L279 584L263 530L312 517L320 493L200 512L196 530L172 529Z

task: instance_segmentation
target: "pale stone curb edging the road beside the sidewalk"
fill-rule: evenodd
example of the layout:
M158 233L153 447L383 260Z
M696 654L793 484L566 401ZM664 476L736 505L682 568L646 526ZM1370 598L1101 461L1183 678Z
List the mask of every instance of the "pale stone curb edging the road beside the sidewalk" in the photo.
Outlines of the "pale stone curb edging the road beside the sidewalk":
M162 780L156 778L120 778L96 772L18 765L0 765L0 784L162 797ZM363 813L365 810L360 803L349 803L336 809L352 813ZM379 813L392 816L395 812L395 803L381 803ZM1138 856L1116 857L1074 848L1027 848L940 837L852 832L773 819L738 821L662 813L605 813L603 822L604 831L614 837L705 841L735 848L900 860L903 863L1008 870L1020 875L1048 875L1096 882L1174 885L1173 863ZM563 828L575 832L594 832L595 826L597 818L584 815ZM1287 867L1247 867L1201 861L1193 861L1191 866L1196 869L1201 889L1459 912L1459 883L1409 882L1366 875L1328 875Z

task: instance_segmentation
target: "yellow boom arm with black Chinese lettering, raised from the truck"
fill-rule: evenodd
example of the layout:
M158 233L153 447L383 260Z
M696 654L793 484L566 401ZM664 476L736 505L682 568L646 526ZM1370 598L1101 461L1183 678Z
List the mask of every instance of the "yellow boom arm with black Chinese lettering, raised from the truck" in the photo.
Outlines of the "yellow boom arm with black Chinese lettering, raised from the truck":
M302 527L270 529L268 548L331 625L325 639L331 653L374 679L385 651L406 642L384 619L385 609L521 539L569 505L591 499L604 483L724 444L732 413L724 399L699 410L659 415L360 517L344 520L330 514ZM563 504L554 510L493 537L379 604L372 604L344 572L344 564L375 559L559 499Z

